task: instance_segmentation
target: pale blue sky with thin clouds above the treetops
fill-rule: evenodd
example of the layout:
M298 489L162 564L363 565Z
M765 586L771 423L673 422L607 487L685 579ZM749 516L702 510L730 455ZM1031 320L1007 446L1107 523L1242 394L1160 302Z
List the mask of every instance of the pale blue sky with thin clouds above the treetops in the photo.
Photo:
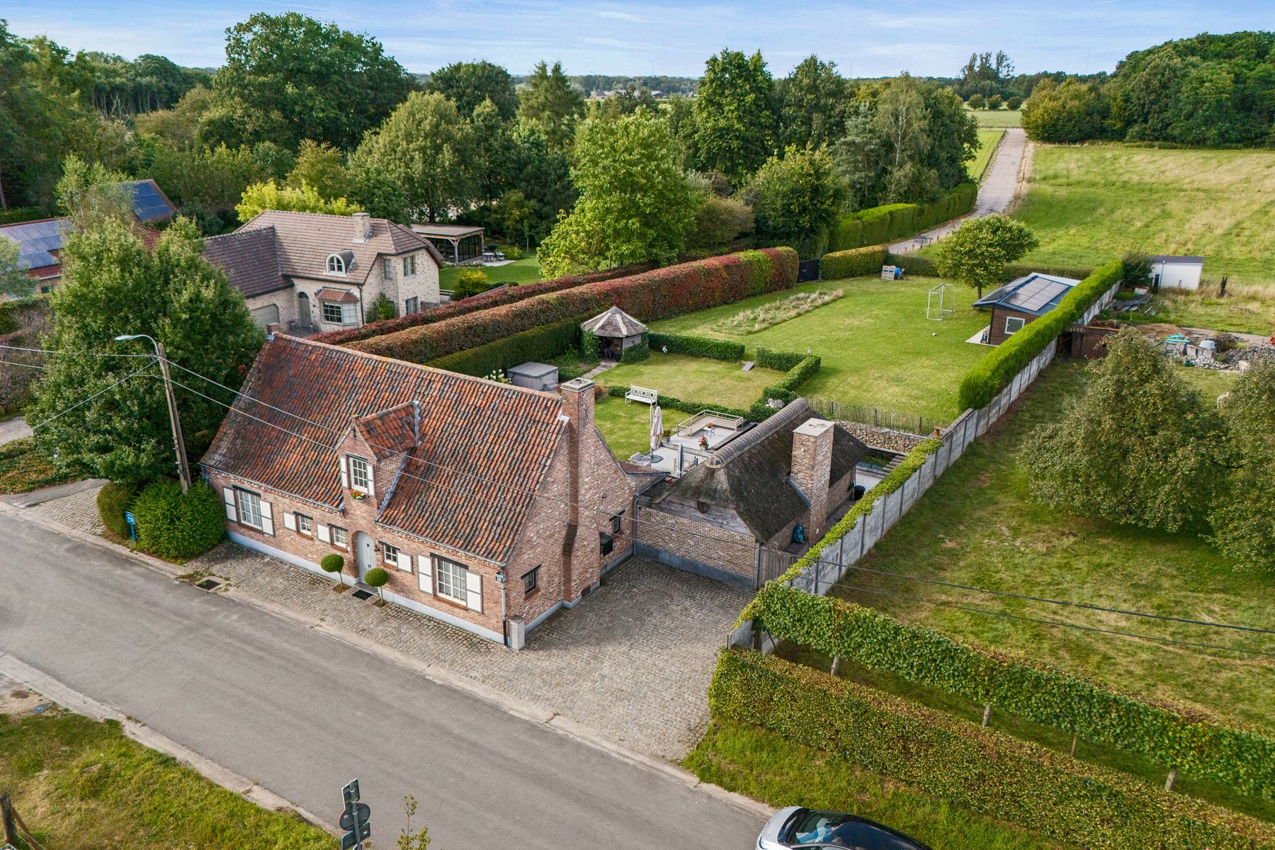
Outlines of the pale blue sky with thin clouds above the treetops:
M1269 29L1271 0L28 0L0 3L19 36L129 59L217 66L224 31L255 11L302 11L379 38L412 71L487 59L514 74L541 59L569 74L697 76L722 47L761 50L775 75L815 52L847 76L954 75L972 51L1020 71L1112 70L1131 50L1200 32Z

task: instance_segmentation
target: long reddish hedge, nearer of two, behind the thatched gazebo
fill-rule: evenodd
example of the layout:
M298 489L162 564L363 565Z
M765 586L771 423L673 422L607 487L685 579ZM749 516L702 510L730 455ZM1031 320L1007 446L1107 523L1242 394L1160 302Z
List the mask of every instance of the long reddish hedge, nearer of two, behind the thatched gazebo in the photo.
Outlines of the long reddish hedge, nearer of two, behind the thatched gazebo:
M742 251L550 292L515 303L349 343L370 354L425 363L529 328L618 306L643 321L668 319L797 283L797 252ZM519 287L521 289L523 287Z

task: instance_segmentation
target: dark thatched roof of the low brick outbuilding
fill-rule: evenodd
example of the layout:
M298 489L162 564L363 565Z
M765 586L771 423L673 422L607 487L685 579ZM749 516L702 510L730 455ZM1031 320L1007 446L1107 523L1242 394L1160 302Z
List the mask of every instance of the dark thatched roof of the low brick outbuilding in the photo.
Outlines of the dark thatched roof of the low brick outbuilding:
M797 399L757 427L709 452L668 494L733 510L759 542L778 534L801 516L806 498L788 480L792 472L793 431L817 414ZM829 483L845 477L868 452L854 435L836 426L833 433L833 472Z

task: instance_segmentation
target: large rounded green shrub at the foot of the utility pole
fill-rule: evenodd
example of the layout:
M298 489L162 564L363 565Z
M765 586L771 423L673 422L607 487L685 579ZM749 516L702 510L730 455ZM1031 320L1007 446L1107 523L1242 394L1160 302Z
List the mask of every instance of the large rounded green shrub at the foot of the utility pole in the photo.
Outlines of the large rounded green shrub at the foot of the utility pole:
M217 545L226 534L221 497L195 482L189 493L172 479L148 484L133 502L138 545L161 558L194 558Z

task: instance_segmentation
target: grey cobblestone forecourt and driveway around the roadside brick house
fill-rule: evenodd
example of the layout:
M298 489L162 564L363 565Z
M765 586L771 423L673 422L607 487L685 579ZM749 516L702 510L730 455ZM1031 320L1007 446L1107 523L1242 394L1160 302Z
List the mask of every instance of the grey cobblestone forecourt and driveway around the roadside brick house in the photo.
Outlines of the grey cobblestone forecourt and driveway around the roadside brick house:
M101 531L87 491L31 507ZM514 652L398 605L376 608L333 584L233 543L187 565L256 596L391 646L571 717L660 758L680 758L708 723L718 647L751 594L644 558L630 558L602 587L530 633Z

